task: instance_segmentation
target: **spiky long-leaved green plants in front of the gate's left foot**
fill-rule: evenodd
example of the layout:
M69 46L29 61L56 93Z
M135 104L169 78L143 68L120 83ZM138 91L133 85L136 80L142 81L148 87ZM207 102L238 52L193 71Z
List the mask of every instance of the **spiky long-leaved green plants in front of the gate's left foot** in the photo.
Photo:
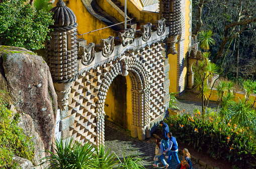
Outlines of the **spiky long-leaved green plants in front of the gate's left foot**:
M120 161L118 168L144 168L140 163L142 161L139 157L128 155L124 160L120 158L110 149L105 149L104 145L94 147L90 142L83 145L73 138L68 138L65 141L62 139L55 140L53 153L49 150L45 152L50 153L42 160L43 163L49 162L47 168L62 168L62 169L111 169L117 166L118 160ZM118 158L118 160L116 160Z

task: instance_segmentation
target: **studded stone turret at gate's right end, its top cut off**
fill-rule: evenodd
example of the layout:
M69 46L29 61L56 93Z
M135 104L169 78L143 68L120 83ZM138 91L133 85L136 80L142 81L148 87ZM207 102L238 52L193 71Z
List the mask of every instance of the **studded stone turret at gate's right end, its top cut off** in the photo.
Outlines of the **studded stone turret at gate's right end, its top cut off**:
M169 26L167 54L177 54L175 43L181 34L181 0L160 0L160 15L165 18L166 26Z

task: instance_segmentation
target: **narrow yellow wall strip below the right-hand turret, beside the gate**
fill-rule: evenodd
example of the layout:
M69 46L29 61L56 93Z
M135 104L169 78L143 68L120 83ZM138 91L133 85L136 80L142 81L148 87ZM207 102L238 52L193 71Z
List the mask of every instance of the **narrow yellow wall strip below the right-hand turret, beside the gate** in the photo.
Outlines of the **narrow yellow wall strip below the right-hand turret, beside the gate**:
M176 43L176 50L178 49L178 44ZM168 54L168 61L170 64L169 70L169 92L177 92L177 54Z

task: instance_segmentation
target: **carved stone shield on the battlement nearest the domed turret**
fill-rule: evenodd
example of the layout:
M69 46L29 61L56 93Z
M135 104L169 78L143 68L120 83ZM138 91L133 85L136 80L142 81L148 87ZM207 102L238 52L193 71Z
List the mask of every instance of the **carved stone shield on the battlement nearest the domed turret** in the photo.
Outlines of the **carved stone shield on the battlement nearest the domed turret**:
M82 64L89 65L95 59L94 43L89 43L86 46L79 46L79 55L82 57Z

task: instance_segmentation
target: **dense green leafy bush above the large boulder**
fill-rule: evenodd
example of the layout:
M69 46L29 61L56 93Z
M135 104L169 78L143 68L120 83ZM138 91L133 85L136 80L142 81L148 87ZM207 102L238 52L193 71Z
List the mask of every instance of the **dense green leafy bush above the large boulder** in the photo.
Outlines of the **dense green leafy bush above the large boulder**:
M52 13L35 9L24 4L23 0L3 0L0 3L1 45L40 49L52 24Z

